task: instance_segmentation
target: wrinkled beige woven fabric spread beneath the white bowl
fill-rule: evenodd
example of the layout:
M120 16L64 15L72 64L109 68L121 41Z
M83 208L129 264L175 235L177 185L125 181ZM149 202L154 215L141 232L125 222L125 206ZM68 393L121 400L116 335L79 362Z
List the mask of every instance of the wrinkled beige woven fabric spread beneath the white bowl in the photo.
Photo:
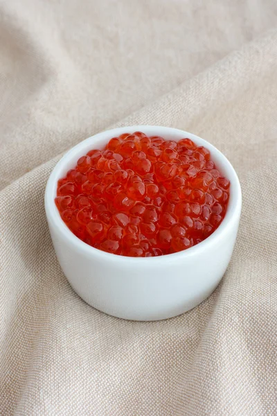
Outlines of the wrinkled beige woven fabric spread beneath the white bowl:
M276 24L272 0L0 0L0 415L277 415ZM44 214L59 155L133 123L208 139L242 184L222 283L161 322L82 302Z

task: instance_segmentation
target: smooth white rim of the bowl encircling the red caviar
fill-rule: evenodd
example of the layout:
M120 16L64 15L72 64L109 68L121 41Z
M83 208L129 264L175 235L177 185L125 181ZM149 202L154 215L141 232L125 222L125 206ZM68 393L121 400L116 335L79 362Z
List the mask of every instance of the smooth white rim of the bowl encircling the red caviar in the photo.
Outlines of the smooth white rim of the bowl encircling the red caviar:
M193 245L193 247L190 247L186 250L175 252L172 254L165 254L163 256L157 256L157 257L127 257L127 256L120 256L118 254L111 254L108 252L104 252L102 250L99 250L98 248L94 248L91 245L84 243L84 241L78 239L73 232L66 226L64 221L62 220L60 216L60 212L58 211L54 199L57 192L57 180L62 177L61 171L64 165L68 164L72 159L76 158L76 153L80 152L80 155L84 155L89 150L84 150L84 153L82 153L82 149L88 148L89 146L93 144L93 141L102 140L103 142L111 139L111 137L116 137L118 135L123 134L124 132L136 132L136 131L142 131L147 130L147 135L170 135L172 133L173 135L181 135L184 138L189 138L195 141L195 143L198 146L205 146L208 148L208 150L211 151L212 157L216 157L216 159L220 159L220 164L224 166L225 173L230 182L230 199L229 199L229 205L226 212L226 215L224 216L224 219L222 220L222 223L220 226L215 229L213 234L211 236L208 236L207 239L202 241L201 243L198 243L197 245ZM131 134L131 133L130 133ZM105 138L105 139L104 139ZM179 139L180 140L180 139ZM93 147L93 146L92 146ZM96 144L97 147L97 144ZM78 155L78 158L80 157ZM76 161L77 162L77 161ZM72 166L75 166L75 162L72 163ZM66 171L68 171L70 168L66 168ZM226 174L227 172L227 174ZM48 181L46 184L45 194L44 194L44 205L46 210L46 217L48 219L48 222L53 225L58 232L62 234L64 239L69 241L71 245L74 246L75 250L77 252L82 252L82 254L86 254L88 257L100 257L102 258L102 261L120 261L121 263L155 263L157 261L159 262L167 262L167 261L174 261L175 259L179 259L182 257L183 259L186 259L188 257L194 256L195 254L201 254L202 251L206 250L208 246L211 246L217 241L220 240L220 237L223 233L227 232L231 227L235 226L235 223L240 218L240 211L241 211L241 205L242 205L242 193L241 193L241 187L240 187L240 181L238 179L238 175L235 172L235 169L229 162L229 160L226 158L226 156L223 155L223 153L220 152L215 146L213 146L211 143L206 141L205 139L202 139L201 137L194 135L193 133L186 132L185 130L180 130L177 128L170 128L170 127L164 127L159 125L130 125L130 126L123 126L120 128L113 128L111 130L104 130L102 132L97 133L96 135L93 135L91 137L88 137L87 139L84 139L80 141L77 145L73 146L70 150L68 150L62 158L57 162L55 167L53 168L53 171L51 172L50 176L48 177Z

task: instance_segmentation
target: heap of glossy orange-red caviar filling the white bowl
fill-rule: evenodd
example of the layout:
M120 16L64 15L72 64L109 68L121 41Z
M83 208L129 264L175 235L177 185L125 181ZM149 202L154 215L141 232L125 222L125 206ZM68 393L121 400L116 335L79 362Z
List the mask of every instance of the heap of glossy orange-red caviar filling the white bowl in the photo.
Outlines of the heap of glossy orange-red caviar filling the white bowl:
M205 147L134 132L80 157L58 181L55 203L85 243L153 257L210 236L224 218L229 187Z

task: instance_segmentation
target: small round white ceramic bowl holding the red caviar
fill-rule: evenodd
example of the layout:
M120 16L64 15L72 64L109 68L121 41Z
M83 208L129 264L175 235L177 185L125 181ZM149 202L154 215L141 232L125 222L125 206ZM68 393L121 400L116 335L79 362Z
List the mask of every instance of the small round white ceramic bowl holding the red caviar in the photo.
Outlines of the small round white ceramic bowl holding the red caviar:
M210 150L222 175L231 182L226 216L211 236L185 251L159 257L123 257L87 245L76 237L55 206L57 180L93 148L104 148L125 132L142 131L179 141L188 137ZM175 128L132 125L89 137L60 159L45 192L45 209L57 259L74 291L98 309L129 320L161 320L184 313L211 295L231 259L238 232L242 196L233 166L217 148Z

